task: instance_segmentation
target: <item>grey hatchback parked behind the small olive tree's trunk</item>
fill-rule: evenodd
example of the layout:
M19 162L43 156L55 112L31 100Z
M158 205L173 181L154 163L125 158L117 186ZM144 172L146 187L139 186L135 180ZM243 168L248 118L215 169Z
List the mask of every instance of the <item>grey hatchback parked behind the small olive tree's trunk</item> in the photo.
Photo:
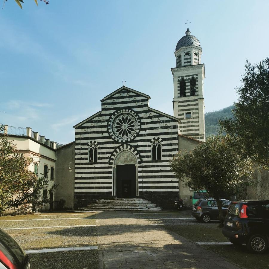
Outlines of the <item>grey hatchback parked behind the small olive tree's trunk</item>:
M226 216L228 206L230 205L231 201L226 199L220 199L222 202L222 212L223 216ZM218 205L214 199L199 199L193 206L192 206L192 215L198 221L203 221L205 223L210 222L212 219L218 219Z

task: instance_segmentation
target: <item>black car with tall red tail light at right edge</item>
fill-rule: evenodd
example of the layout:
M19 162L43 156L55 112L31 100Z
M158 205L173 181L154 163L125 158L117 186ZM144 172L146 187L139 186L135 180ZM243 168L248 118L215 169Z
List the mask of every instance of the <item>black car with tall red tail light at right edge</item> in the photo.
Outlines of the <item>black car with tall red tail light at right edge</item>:
M222 233L233 244L247 244L252 253L265 253L269 243L269 200L232 202Z

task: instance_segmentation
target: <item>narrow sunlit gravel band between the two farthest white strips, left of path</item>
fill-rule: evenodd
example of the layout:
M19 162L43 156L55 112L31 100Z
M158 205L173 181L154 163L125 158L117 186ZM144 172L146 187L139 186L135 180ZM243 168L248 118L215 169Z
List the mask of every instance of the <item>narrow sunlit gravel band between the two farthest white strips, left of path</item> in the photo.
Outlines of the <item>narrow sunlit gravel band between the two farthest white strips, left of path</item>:
M69 218L66 216L65 218ZM95 224L95 219L59 219L59 220L29 220L29 221L0 221L0 227L5 228L25 228L25 227L46 227L64 225L89 225Z

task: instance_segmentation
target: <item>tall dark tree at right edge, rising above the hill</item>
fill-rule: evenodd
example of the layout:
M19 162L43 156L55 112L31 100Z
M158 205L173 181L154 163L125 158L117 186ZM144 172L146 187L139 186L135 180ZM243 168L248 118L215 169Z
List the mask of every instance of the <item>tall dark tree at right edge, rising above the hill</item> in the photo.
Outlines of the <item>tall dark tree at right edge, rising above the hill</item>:
M254 65L247 60L241 81L233 118L219 120L221 132L238 140L245 156L269 169L269 57Z

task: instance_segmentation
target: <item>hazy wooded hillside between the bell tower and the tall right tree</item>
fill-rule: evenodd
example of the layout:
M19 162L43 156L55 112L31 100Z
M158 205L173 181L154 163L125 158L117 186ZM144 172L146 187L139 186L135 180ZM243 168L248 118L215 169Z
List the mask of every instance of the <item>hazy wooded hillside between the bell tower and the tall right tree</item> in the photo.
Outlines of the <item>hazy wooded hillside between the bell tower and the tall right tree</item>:
M217 130L219 129L218 120L225 119L226 117L228 119L233 118L232 109L234 108L235 106L232 105L218 111L207 112L204 114L206 137L217 135Z

